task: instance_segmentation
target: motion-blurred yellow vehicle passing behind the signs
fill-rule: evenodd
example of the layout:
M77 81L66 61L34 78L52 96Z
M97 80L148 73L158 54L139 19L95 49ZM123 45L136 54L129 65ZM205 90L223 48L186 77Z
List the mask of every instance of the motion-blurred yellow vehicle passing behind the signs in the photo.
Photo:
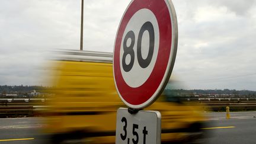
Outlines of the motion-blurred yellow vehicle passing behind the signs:
M52 85L44 132L53 143L114 143L116 112L126 107L113 78L112 53L63 50L52 60ZM199 106L165 91L146 110L162 114L162 143L194 142L207 119Z

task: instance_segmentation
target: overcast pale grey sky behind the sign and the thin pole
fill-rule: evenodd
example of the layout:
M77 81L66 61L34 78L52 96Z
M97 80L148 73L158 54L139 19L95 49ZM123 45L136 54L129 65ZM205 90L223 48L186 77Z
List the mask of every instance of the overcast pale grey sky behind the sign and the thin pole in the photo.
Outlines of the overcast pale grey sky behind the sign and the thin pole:
M113 52L130 1L85 0L84 50ZM255 0L173 0L186 89L256 90ZM0 85L41 85L46 52L79 49L81 0L0 1Z

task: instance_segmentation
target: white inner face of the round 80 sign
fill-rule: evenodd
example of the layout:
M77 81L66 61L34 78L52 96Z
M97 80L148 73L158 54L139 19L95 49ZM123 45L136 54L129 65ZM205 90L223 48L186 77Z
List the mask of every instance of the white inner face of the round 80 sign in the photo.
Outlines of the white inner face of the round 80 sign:
M124 30L120 49L121 68L127 69L121 69L121 74L129 87L140 87L149 78L155 67L158 47L158 21L152 11L146 8L140 9L133 15ZM132 55L128 55L131 53L130 49L132 49Z

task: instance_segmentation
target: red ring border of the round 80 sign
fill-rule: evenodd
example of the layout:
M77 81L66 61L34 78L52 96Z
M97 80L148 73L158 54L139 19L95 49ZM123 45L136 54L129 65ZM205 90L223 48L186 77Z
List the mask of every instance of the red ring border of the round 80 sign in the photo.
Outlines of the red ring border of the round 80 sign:
M140 87L132 88L126 84L121 74L120 48L123 33L127 24L129 23L130 18L132 18L133 14L143 8L151 10L158 21L159 50L155 66L149 78ZM158 88L163 81L165 73L168 72L167 68L171 55L173 32L171 23L171 16L165 0L134 0L126 9L126 12L120 22L119 30L117 31L113 59L114 79L116 82L117 91L119 92L120 97L126 101L126 103L131 105L141 105L148 101L151 97L157 96L154 94L159 90Z

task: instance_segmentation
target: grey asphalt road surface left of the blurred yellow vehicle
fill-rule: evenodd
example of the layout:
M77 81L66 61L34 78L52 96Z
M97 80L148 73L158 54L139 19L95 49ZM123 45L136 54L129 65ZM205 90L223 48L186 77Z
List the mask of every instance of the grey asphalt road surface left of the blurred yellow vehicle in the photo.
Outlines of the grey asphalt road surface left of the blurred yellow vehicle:
M41 118L0 119L0 143L47 143L46 137L41 135L41 127Z

